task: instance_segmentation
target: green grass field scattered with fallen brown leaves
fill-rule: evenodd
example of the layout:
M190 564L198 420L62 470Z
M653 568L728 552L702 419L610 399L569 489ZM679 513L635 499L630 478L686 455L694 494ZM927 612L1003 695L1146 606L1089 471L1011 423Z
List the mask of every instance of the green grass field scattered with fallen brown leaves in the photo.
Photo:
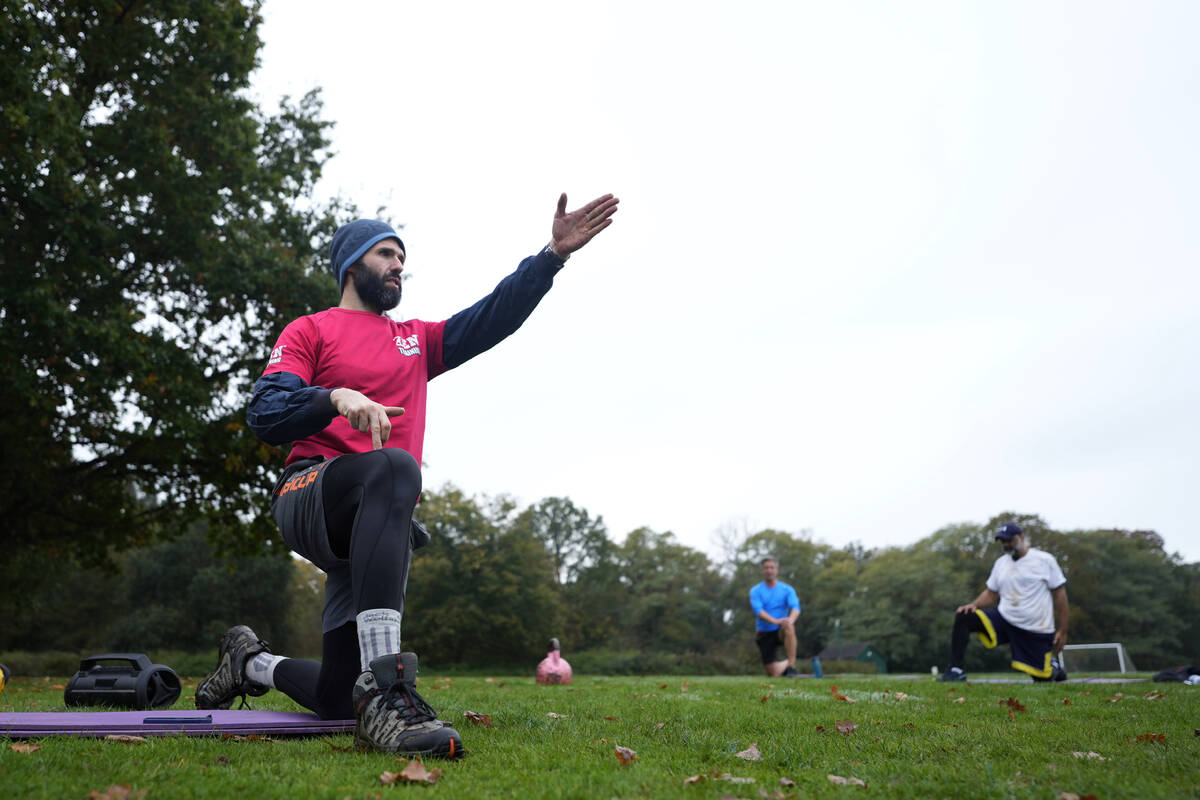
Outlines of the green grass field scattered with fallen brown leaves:
M62 710L64 682L16 679L0 711ZM190 708L194 685L185 681L175 708ZM468 751L426 763L443 770L436 784L382 784L403 760L346 751L350 735L47 738L35 752L0 739L0 794L88 798L124 784L145 798L254 800L1200 798L1200 687L1180 684L576 676L541 687L528 676L422 675L420 691ZM277 692L254 708L299 710ZM491 727L467 721L467 710L490 715ZM739 757L751 745L760 760ZM617 746L636 760L622 765Z

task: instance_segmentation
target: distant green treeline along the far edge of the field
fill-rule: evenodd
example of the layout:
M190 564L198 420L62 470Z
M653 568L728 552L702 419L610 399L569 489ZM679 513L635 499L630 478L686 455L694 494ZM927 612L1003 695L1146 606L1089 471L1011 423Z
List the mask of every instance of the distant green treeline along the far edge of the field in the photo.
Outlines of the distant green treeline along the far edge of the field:
M1152 531L1056 531L1037 516L1003 513L866 551L803 533L727 530L714 560L647 528L618 543L602 518L565 498L521 507L446 486L425 493L418 516L433 541L414 555L406 648L437 668L528 669L557 636L581 672L755 672L746 596L769 554L804 607L802 656L835 639L869 642L890 670L925 672L944 664L953 609L983 588L1000 554L991 531L1009 521L1067 573L1072 642L1122 642L1144 669L1200 655L1200 565L1166 553ZM7 576L24 589L0 599L0 654L211 654L238 622L277 652L319 652L322 575L284 553L222 559L196 527L114 561L115 571L60 560ZM972 669L1007 664L982 648L968 658Z

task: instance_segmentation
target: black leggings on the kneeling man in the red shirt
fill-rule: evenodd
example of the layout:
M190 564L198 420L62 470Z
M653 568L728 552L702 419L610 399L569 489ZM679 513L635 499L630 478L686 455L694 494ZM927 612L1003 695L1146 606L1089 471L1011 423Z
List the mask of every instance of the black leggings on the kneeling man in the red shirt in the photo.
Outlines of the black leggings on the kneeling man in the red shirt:
M325 468L325 529L334 553L350 561L355 612L404 612L413 509L420 494L420 467L401 450L340 456ZM280 662L275 686L324 720L347 720L354 716L350 692L360 672L358 628L350 621L325 632L320 662Z

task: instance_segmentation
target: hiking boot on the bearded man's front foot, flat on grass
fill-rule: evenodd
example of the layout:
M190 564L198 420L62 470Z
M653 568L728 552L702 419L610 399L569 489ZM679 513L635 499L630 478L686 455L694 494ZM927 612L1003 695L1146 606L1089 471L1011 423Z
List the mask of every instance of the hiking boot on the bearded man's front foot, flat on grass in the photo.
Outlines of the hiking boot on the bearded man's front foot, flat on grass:
M462 736L416 693L416 654L379 656L359 675L352 698L354 744L404 756L461 758Z

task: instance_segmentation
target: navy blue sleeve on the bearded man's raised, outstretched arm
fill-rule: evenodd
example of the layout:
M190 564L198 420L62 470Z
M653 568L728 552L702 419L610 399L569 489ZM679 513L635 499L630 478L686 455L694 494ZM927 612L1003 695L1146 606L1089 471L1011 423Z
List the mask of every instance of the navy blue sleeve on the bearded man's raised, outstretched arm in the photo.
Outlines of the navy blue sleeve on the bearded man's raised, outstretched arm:
M452 369L492 349L533 313L550 291L563 260L550 247L521 261L492 293L446 320L442 362Z

